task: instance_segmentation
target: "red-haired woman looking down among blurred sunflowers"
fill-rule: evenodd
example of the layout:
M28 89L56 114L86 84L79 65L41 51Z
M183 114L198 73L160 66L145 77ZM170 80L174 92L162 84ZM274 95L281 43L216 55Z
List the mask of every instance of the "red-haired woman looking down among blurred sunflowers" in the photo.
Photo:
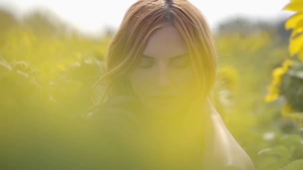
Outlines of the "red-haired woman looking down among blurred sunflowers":
M106 169L254 170L208 96L217 56L188 0L138 0L107 53L106 90L90 115Z

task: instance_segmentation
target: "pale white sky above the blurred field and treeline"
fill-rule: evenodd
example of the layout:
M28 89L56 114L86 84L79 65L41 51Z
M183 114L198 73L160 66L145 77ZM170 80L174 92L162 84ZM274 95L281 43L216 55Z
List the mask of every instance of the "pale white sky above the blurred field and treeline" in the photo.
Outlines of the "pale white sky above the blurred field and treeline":
M17 16L41 8L84 33L100 33L118 28L127 8L136 0L0 0L0 7L12 9ZM277 21L292 14L282 10L290 0L189 0L206 16L210 27L237 16L254 20Z

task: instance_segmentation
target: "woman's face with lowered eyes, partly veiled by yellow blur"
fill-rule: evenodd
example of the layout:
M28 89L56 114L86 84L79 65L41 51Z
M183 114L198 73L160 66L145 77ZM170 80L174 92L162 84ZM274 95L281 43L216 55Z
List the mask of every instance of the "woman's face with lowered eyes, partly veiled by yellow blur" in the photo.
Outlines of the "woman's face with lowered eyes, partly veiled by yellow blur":
M181 111L197 95L188 50L178 30L169 24L151 35L129 76L135 95L152 113Z

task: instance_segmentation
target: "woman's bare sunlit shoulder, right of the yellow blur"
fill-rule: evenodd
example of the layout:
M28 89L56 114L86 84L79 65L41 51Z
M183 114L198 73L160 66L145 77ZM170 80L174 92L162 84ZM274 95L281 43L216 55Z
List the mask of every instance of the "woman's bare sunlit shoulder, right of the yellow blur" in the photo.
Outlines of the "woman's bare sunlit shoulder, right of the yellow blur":
M255 170L252 160L230 133L221 115L213 109L210 119L213 135L204 160L222 170Z

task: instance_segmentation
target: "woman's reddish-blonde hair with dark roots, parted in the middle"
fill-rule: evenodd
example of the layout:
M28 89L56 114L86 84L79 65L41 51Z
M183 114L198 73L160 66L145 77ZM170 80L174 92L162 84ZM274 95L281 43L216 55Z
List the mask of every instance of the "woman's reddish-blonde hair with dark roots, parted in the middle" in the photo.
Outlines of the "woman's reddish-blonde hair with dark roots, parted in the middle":
M194 73L206 98L216 79L217 55L209 25L202 12L188 0L138 0L131 5L113 36L106 54L107 72L97 81L105 92L101 103L129 92L125 75L139 61L152 33L164 24L179 31L189 50Z

